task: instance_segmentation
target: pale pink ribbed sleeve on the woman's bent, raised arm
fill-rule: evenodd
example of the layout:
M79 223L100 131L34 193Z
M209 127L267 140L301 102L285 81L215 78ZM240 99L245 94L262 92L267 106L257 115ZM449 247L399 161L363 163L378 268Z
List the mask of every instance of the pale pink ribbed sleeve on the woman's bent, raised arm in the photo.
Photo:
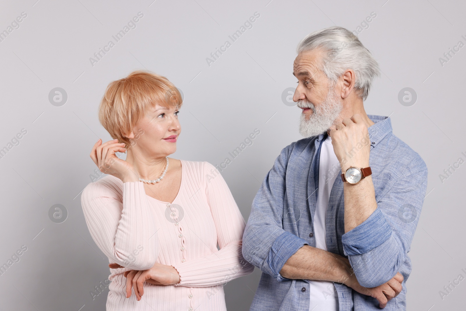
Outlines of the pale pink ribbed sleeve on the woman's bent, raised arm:
M84 188L81 205L90 235L110 263L152 268L158 255L157 230L142 182L98 180Z

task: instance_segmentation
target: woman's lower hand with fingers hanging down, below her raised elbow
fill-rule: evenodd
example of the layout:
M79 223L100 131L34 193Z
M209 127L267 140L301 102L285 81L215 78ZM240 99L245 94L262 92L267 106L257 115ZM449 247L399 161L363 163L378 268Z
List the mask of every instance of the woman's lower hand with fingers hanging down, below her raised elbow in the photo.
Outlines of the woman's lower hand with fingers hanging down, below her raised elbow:
M124 268L117 263L110 263L112 269ZM126 298L131 297L131 287L134 289L136 299L141 300L144 294L144 282L154 285L172 285L180 281L178 271L173 266L155 263L149 270L129 270L123 272L126 277Z

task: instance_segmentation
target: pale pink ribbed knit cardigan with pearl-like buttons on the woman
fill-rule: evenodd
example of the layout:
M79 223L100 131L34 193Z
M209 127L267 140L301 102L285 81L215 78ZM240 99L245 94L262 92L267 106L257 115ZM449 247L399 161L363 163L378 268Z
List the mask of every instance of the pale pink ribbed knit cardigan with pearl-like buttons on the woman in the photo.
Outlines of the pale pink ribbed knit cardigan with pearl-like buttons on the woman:
M225 180L208 162L181 165L181 186L171 203L145 194L142 182L123 183L112 175L84 188L82 210L94 242L109 263L126 267L110 269L107 311L223 311L223 285L253 272L241 253L245 221ZM144 283L140 301L134 291L126 298L123 272L156 262L178 270L180 283Z

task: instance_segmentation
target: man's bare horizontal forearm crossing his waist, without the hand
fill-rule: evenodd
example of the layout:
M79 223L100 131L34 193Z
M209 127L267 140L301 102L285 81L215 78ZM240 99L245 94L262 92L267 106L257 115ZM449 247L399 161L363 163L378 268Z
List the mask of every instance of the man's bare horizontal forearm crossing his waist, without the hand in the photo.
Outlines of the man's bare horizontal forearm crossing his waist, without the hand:
M352 271L346 258L304 245L288 258L280 274L289 279L345 283L351 277Z

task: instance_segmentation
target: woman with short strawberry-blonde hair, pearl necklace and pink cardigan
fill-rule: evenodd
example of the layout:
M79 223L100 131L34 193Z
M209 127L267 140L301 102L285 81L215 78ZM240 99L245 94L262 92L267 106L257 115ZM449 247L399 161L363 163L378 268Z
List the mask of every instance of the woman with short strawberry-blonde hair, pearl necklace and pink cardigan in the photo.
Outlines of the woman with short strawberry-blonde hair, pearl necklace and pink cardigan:
M108 175L84 188L81 203L109 258L107 311L226 310L222 284L254 270L241 252L245 221L216 168L168 158L181 104L170 81L147 71L110 83L100 104L115 140L92 148Z

